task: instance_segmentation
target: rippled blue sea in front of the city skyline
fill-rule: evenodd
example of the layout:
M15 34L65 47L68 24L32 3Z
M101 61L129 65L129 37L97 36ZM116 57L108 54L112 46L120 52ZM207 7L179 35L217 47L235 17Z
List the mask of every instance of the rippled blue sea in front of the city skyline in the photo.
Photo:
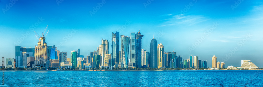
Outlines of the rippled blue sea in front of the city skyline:
M9 71L4 86L263 86L263 70ZM3 86L3 85L2 85Z

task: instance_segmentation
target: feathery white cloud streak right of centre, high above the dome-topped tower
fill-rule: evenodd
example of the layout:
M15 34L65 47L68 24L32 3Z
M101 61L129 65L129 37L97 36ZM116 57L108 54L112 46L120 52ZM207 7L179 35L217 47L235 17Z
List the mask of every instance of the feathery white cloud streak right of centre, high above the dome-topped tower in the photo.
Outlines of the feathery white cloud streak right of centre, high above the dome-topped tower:
M166 21L164 21L166 20ZM173 15L169 19L164 19L164 21L159 27L161 26L168 26L168 25L194 25L200 22L207 21L205 17L201 15L187 15L187 14L180 14L180 15Z

